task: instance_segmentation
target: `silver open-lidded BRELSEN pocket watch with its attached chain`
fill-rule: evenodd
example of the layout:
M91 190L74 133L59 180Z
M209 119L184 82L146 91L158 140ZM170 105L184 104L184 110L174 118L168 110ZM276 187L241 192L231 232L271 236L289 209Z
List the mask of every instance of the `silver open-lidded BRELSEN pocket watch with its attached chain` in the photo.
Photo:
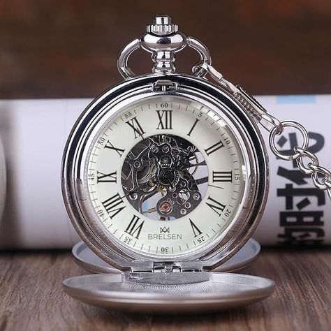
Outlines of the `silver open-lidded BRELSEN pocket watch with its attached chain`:
M177 73L175 55L198 52L191 74ZM152 54L152 73L135 75L128 58ZM307 131L280 122L242 87L212 67L198 39L168 15L120 52L123 82L82 112L68 138L62 191L68 215L87 246L118 274L64 281L82 302L135 311L203 311L262 300L273 281L212 272L249 240L267 200L270 148L297 162L331 197L331 173L309 152ZM207 79L209 78L209 79ZM282 154L286 128L302 146Z

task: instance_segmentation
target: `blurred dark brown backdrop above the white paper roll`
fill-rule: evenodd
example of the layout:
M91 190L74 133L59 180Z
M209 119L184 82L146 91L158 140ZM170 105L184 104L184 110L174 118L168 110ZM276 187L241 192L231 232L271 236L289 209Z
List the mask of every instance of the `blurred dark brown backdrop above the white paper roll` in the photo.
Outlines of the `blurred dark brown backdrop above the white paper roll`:
M119 50L159 13L253 94L331 93L330 0L0 0L0 98L98 95L121 80ZM149 72L137 53L133 69ZM197 60L184 50L177 68Z

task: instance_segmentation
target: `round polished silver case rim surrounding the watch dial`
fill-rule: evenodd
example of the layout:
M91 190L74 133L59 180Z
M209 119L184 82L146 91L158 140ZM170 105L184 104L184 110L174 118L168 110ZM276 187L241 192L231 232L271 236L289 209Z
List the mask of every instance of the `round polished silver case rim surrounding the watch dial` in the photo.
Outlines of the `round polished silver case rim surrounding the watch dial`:
M124 105L164 94L200 101L225 118L237 135L249 165L247 190L240 212L226 233L197 253L178 258L137 253L110 237L89 205L84 175L89 147L105 123ZM247 111L221 87L203 78L177 73L136 76L111 87L92 101L75 123L66 143L61 184L66 209L75 230L87 246L110 265L131 272L157 269L208 271L226 262L253 234L265 207L268 178L263 138Z

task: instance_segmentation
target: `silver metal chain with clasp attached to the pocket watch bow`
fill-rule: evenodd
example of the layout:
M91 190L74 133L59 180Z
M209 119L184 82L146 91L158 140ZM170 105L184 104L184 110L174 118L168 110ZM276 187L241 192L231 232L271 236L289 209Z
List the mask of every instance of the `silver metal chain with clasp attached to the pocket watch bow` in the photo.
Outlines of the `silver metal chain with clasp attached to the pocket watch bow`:
M306 175L311 175L311 179L317 189L327 191L331 200L331 172L330 170L319 165L316 154L309 152L309 135L307 130L299 123L293 121L280 122L279 119L267 114L267 110L263 108L256 98L247 93L239 85L235 86L228 80L223 78L223 75L216 71L206 61L196 64L192 69L196 71L204 71L204 75L209 74L223 89L228 91L234 98L256 119L267 131L270 132L269 144L272 153L279 159L284 161L297 162L297 167ZM284 154L279 152L276 147L275 139L277 135L281 135L285 128L295 128L302 135L302 146L293 147L293 153ZM306 162L306 163L305 163Z

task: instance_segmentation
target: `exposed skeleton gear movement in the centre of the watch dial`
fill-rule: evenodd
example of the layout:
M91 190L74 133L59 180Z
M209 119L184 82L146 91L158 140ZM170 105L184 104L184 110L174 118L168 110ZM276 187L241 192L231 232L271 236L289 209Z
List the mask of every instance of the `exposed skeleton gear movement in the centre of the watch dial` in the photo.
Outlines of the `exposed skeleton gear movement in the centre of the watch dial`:
M191 212L201 202L207 180L203 155L176 135L143 139L131 149L122 167L124 193L135 193L135 199L128 201L152 219L178 219Z

